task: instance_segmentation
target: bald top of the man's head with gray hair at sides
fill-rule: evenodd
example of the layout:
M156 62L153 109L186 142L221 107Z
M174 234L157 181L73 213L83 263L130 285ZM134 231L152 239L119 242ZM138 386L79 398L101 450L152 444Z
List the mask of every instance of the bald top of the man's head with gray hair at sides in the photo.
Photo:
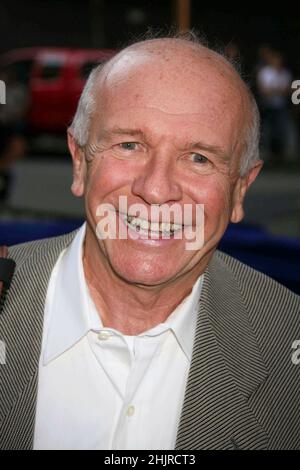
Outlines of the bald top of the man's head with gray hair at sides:
M141 41L95 69L71 126L80 145L88 141L97 103L108 106L116 94L124 106L130 96L135 106L146 103L170 115L196 115L205 106L208 122L221 114L222 125L234 129L232 152L241 157L242 173L258 158L258 113L251 92L228 60L199 43Z

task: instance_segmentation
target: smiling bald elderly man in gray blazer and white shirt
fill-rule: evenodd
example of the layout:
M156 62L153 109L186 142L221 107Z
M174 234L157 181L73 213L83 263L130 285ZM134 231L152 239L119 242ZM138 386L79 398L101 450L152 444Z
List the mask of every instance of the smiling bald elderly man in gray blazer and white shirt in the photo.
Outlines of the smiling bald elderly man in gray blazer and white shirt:
M261 169L258 129L238 73L196 42L92 72L69 129L86 223L10 249L0 447L300 448L299 297L216 250Z

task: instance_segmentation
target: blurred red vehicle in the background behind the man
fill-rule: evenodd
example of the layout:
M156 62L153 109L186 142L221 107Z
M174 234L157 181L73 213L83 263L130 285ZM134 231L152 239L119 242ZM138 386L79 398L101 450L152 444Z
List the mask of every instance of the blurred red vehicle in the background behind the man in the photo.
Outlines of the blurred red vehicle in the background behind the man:
M3 55L0 67L13 70L28 87L29 131L64 132L91 69L115 53L111 49L30 48Z

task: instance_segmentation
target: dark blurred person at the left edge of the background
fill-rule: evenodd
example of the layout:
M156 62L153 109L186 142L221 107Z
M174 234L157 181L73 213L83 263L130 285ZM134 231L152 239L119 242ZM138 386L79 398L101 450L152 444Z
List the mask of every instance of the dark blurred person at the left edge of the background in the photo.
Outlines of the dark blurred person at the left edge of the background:
M0 72L0 79L6 85L6 104L0 105L0 203L4 203L11 188L11 168L26 152L28 97L13 70Z

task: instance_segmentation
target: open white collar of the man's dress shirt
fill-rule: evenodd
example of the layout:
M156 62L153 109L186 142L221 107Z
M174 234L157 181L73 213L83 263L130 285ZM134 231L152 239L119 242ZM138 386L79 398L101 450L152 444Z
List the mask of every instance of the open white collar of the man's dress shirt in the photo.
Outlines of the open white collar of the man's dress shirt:
M60 254L52 271L46 299L46 331L43 364L57 358L90 330L103 328L90 297L82 264L84 223L72 243ZM191 361L197 323L198 303L203 275L192 292L176 307L167 320L139 336L155 336L170 329L188 360Z

